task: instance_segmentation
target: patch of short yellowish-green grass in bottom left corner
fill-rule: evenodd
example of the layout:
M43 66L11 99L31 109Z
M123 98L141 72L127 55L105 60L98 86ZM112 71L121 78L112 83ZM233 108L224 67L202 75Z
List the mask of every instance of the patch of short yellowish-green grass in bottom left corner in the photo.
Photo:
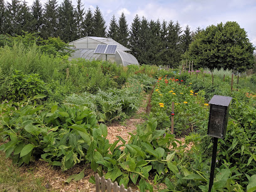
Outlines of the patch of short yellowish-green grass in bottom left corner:
M0 191L47 191L42 186L42 179L35 178L33 171L23 173L21 168L6 159L0 152Z

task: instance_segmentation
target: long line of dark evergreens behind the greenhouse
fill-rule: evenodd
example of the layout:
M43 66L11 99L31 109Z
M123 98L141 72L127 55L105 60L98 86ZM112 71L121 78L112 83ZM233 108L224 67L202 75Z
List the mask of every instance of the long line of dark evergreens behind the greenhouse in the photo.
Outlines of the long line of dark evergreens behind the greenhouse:
M178 21L147 21L136 15L131 28L125 14L115 15L107 29L102 12L97 6L93 12L85 10L81 0L77 6L71 0L48 0L44 5L35 0L32 6L26 1L0 0L0 35L23 35L23 32L38 33L41 38L60 37L66 43L85 36L109 37L132 50L139 63L173 65L192 41L189 26L181 28Z

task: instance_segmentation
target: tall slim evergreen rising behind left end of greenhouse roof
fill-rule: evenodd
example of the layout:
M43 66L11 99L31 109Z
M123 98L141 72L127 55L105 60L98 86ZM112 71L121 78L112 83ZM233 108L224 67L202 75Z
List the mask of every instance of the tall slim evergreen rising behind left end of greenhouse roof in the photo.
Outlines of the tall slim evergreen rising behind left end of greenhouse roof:
M81 0L77 0L77 9L75 10L75 19L77 23L77 38L83 37L84 29L84 16L85 16L85 9L81 3Z

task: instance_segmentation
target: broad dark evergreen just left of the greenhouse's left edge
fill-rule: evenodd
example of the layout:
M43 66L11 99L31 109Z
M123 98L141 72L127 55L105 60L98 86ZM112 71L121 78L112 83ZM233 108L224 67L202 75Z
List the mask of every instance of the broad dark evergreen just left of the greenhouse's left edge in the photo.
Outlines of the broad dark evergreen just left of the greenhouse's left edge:
M71 0L64 0L58 8L58 36L68 43L77 40L77 23Z

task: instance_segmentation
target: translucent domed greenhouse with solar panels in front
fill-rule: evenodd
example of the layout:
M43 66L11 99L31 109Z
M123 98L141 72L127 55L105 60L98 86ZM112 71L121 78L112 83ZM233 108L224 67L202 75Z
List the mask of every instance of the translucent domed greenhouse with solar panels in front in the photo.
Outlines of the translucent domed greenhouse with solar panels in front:
M73 58L85 58L86 60L107 60L119 65L139 65L135 56L127 51L129 48L121 45L112 38L101 38L95 36L87 36L79 40L69 43L72 50L70 60Z

